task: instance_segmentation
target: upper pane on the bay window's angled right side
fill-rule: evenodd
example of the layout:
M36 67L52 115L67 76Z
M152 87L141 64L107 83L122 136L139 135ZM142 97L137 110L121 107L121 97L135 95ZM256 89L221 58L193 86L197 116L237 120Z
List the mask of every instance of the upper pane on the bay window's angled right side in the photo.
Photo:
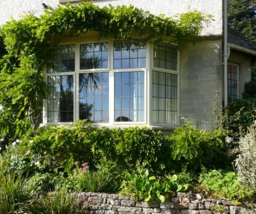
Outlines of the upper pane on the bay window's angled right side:
M154 67L177 70L178 48L175 45L158 42L154 44Z

